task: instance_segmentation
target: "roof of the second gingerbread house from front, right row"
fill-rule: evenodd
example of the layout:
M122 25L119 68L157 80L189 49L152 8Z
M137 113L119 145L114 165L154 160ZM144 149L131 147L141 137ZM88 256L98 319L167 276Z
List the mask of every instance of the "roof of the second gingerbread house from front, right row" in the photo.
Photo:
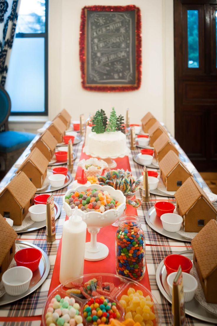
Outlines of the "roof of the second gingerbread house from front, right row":
M201 197L203 197L217 215L215 207L193 177L189 177L175 192L175 198L182 215L187 214Z

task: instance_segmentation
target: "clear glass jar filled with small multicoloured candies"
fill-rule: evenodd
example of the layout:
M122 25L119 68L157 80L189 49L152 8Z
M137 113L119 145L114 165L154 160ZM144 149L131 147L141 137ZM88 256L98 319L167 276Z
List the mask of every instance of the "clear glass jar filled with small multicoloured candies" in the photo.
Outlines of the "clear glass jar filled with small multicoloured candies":
M119 218L115 250L117 274L141 280L145 273L145 237L138 216L124 215Z

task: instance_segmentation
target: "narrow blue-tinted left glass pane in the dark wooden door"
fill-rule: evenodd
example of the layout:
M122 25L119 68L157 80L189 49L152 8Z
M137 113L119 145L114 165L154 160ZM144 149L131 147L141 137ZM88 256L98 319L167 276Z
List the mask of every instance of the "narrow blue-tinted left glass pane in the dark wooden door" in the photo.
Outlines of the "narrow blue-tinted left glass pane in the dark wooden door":
M199 68L198 10L187 10L188 68Z

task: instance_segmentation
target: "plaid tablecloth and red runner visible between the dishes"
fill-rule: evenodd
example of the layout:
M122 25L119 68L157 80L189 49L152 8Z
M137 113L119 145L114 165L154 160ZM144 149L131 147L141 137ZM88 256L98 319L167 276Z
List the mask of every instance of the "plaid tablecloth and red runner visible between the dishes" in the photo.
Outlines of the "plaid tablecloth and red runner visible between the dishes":
M170 135L170 134L169 134ZM34 143L40 135L37 134L35 139L32 141ZM190 160L183 152L177 141L170 135L171 140L174 142L175 146L179 150L181 158L185 162ZM77 178L81 173L81 168L78 167L78 162L85 158L89 158L82 152L84 137L82 141L76 145L73 145L73 152L77 155L76 160L74 161L73 169L70 170L70 173L73 177L73 180ZM25 149L22 156L19 158L19 161L24 160L25 157L30 152L32 143ZM129 137L127 137L127 145L130 147ZM128 156L123 158L115 159L117 163L117 168L123 168L124 170L128 169L132 171L132 175L137 178L141 176L143 171L143 166L137 164L133 160L133 156L140 152L140 148L136 147L135 150L130 151ZM63 165L64 166L64 165ZM66 165L65 165L66 166ZM52 169L52 166L49 166L49 169ZM13 166L8 173L5 175L4 179L0 183L0 190L2 190L8 182L11 180L15 173L16 168ZM198 182L202 185L203 189L210 191L204 180L201 178L198 171L193 167L192 172ZM62 241L62 232L63 224L67 218L65 211L62 208L63 196L67 189L71 188L71 184L67 187L60 190L54 191L53 196L54 200L60 205L61 214L60 217L56 220L56 240L52 243L48 243L46 240L45 227L34 230L31 232L19 233L17 237L17 242L28 242L30 244L35 244L40 247L48 255L50 260L50 272L48 274L45 282L36 289L33 293L25 296L23 299L14 301L11 304L6 304L0 306L0 326L39 326L41 325L42 320L42 310L46 302L46 299L55 287L59 283L59 265L60 265L60 256L61 256L61 241ZM142 200L142 191L139 189L136 192L136 198ZM159 303L161 315L162 315L162 325L172 325L171 321L171 304L164 298L160 293L157 283L156 283L156 269L159 263L170 254L180 253L185 250L192 250L190 242L182 242L174 239L169 239L164 235L161 235L154 230L152 230L146 222L145 215L147 211L153 207L154 203L159 200L170 200L175 203L174 197L161 197L151 194L150 201L147 203L142 202L142 205L139 208L134 208L130 205L127 205L126 214L138 215L141 220L142 229L145 235L146 242L146 271L143 279L140 281L146 288L151 290L152 294ZM217 204L215 202L215 207ZM84 262L84 274L89 273L112 273L116 274L115 270L115 233L117 227L108 226L102 228L97 235L97 240L106 244L109 248L108 257L101 261L86 261ZM87 232L87 240L90 239L90 234ZM186 324L187 325L214 325L211 323L203 322L198 319L192 318L186 315Z

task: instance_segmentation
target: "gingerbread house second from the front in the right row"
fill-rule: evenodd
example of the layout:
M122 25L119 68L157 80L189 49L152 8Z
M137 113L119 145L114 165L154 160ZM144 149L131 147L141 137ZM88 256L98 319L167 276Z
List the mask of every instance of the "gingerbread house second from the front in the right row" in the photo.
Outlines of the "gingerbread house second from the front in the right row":
M206 193L193 177L189 177L175 192L176 209L184 220L186 232L199 232L211 219L216 220L217 211Z

